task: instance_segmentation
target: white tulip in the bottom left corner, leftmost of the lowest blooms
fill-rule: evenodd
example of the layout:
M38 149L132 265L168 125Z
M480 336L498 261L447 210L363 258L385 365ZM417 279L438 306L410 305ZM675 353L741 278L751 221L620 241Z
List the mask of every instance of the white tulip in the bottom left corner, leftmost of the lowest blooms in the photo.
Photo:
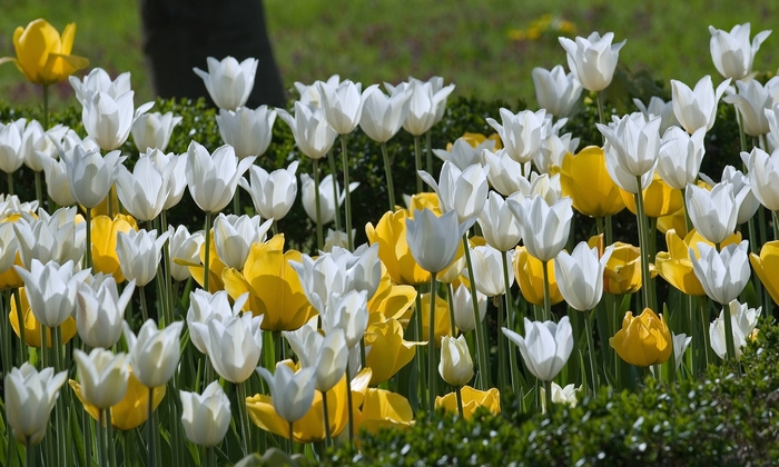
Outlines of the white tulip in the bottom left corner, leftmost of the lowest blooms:
M19 443L39 444L49 427L49 414L68 372L55 375L53 368L40 372L27 361L6 374L6 416L11 433Z

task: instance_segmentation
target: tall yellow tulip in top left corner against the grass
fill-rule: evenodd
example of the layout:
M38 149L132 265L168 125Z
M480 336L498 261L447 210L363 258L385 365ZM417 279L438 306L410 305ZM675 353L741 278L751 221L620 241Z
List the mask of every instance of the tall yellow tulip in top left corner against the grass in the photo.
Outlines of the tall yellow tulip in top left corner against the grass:
M86 58L70 54L75 37L75 22L66 26L60 37L47 20L37 19L27 28L20 26L13 31L17 58L6 57L0 63L12 61L24 78L36 85L60 82L89 64Z

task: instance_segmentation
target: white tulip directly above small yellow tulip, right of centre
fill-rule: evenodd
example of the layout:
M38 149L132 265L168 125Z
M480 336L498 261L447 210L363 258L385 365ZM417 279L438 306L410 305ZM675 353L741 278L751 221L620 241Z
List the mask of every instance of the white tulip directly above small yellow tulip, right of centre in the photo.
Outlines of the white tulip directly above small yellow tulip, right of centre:
M571 229L571 198L562 198L552 206L540 196L524 197L521 202L510 198L506 202L520 221L527 252L541 261L549 261L558 256L568 241Z

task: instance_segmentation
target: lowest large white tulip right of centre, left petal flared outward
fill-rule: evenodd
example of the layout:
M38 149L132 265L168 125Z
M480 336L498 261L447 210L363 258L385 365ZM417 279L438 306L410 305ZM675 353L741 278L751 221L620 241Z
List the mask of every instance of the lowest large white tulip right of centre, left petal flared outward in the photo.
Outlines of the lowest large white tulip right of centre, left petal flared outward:
M573 331L568 316L560 322L524 319L525 336L507 328L503 335L520 348L525 366L536 378L551 381L563 369L573 350Z

